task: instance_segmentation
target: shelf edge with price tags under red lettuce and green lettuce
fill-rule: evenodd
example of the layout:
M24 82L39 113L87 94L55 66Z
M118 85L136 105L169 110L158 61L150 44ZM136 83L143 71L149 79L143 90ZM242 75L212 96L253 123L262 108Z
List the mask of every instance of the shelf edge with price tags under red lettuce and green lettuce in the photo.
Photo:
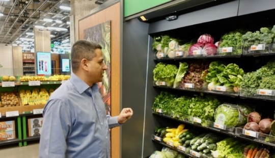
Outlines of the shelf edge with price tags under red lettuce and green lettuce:
M155 88L161 88L161 89L174 89L174 90L180 90L180 91L188 91L188 92L198 92L198 93L207 93L207 94L216 94L216 95L224 95L224 96L231 96L231 97L237 97L239 96L238 93L235 92L223 92L223 91L209 91L207 88L173 88L168 86L157 86L154 84Z

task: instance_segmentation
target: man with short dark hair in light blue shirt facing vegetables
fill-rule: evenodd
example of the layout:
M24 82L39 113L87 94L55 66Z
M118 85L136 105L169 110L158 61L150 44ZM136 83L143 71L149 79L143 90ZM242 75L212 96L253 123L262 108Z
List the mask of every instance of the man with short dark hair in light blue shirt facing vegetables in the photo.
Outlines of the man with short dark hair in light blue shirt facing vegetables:
M120 126L133 111L106 116L96 83L107 69L101 46L79 40L71 50L72 74L50 96L43 111L40 158L109 158L109 128Z

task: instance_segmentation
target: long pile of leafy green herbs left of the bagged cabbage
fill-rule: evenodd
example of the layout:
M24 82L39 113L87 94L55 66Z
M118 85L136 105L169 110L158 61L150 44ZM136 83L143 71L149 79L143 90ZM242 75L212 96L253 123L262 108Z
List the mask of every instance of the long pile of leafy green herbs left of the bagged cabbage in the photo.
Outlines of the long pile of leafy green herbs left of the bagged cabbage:
M173 94L162 91L155 97L153 111L161 109L163 114L175 117L193 116L202 119L202 125L207 125L207 121L214 121L215 109L220 102L212 96L176 97Z

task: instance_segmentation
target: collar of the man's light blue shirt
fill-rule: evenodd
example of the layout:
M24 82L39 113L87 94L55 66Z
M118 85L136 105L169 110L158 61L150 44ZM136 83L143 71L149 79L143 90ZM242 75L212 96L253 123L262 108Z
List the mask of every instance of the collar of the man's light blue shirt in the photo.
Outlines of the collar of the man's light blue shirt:
M79 94L85 92L89 87L84 81L82 81L77 75L71 72L70 82L74 85ZM92 91L98 91L97 84L91 87Z

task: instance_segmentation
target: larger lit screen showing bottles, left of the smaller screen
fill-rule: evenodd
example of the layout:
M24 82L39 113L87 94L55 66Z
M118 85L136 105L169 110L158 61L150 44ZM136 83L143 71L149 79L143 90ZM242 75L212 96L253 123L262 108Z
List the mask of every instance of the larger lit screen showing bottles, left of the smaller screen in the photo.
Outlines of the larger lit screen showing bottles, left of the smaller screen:
M51 75L50 52L37 52L37 74Z

